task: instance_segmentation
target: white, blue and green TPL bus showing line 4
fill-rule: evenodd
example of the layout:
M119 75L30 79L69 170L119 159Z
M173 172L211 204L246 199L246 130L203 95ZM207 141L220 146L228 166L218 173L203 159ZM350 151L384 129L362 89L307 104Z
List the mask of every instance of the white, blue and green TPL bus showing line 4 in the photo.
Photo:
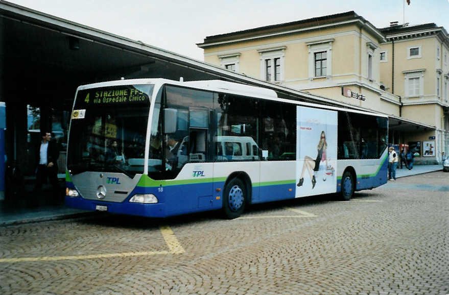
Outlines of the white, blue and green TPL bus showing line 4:
M135 79L77 89L67 206L150 217L387 182L388 118L224 81Z

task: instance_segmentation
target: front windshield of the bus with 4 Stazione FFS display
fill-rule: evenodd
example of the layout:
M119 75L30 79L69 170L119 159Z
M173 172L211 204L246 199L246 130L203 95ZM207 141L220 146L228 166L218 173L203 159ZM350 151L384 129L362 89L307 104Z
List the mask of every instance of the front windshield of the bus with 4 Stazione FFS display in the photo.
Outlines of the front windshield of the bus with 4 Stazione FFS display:
M71 174L144 172L145 138L153 85L79 90L67 150Z

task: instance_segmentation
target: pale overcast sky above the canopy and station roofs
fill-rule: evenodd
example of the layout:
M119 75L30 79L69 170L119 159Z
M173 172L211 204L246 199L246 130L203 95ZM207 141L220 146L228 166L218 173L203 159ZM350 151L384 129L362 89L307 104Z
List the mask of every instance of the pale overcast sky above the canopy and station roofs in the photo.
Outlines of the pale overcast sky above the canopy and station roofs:
M0 0L2 1L2 0ZM377 28L434 22L449 31L449 0L9 0L203 61L206 36L355 11ZM405 4L404 4L405 3ZM405 7L405 9L403 9ZM404 12L404 13L403 13Z

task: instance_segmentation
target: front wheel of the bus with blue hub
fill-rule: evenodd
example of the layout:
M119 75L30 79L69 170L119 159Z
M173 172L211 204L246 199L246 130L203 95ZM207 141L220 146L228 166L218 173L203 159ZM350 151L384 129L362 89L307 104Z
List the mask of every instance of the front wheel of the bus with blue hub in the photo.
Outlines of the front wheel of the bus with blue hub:
M233 219L242 215L246 202L245 184L234 178L226 184L223 192L223 212L227 218Z

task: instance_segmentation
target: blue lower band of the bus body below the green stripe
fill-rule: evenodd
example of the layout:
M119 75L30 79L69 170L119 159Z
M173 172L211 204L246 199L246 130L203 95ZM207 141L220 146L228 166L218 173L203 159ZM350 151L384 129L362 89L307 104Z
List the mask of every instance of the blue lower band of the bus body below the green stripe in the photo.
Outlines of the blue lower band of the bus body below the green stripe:
M387 182L387 165L384 161L377 174L373 177L357 178L357 190L370 189ZM107 206L108 212L130 214L148 217L167 217L172 215L215 210L222 208L224 181L213 183L180 184L169 187L141 187L136 186L121 203L103 202L101 200L87 200L82 197L72 198L65 196L68 207L84 210L96 210L97 205ZM341 179L337 180L337 192L341 190ZM72 182L66 182L68 188L75 188ZM220 188L220 191L217 191ZM295 198L295 183L254 186L252 202L264 203ZM291 191L289 190L291 189ZM198 195L198 192L207 191L209 195ZM169 192L169 194L167 194ZM157 204L130 203L129 199L136 194L152 193L158 198ZM192 197L195 196L195 197Z

